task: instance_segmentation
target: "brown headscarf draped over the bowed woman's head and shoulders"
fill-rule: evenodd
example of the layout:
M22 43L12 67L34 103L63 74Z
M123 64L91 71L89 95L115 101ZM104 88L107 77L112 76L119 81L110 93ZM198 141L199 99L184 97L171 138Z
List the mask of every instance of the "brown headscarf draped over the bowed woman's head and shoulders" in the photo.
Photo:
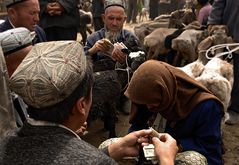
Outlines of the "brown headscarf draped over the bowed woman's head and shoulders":
M125 95L138 104L158 104L168 121L178 121L200 102L219 99L186 73L167 63L149 60L134 73Z

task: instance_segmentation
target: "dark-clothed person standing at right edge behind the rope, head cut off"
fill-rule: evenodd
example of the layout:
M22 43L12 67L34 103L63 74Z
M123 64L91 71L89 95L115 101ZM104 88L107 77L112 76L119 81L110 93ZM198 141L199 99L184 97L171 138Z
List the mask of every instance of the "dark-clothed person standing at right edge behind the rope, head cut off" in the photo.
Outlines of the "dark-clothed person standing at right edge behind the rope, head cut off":
M228 33L235 42L239 42L239 1L217 0L213 2L212 11L208 17L208 30L214 25L227 25ZM232 125L239 123L239 54L233 53L234 81L231 91L231 102L227 108L225 123Z

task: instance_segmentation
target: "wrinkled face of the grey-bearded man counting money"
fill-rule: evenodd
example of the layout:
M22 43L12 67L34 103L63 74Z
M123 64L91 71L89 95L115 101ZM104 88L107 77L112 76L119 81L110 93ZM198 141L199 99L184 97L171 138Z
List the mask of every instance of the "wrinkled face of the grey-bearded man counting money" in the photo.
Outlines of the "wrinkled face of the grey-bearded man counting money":
M126 19L124 9L119 6L108 7L102 17L107 30L112 32L119 32Z

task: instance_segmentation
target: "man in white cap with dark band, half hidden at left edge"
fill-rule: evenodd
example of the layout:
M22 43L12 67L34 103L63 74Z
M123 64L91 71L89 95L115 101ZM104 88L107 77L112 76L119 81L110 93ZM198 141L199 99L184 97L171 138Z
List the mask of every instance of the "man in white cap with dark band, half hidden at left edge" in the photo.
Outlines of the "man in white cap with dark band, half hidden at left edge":
M31 50L32 39L34 36L34 32L30 32L24 27L9 29L0 33L0 46L3 50L4 60L6 61L6 69L9 76L13 74ZM9 100L9 98L6 97L5 99ZM27 105L14 92L11 92L11 99L9 101L11 102L11 100L13 100L14 104L16 123L18 126L22 126L27 117Z

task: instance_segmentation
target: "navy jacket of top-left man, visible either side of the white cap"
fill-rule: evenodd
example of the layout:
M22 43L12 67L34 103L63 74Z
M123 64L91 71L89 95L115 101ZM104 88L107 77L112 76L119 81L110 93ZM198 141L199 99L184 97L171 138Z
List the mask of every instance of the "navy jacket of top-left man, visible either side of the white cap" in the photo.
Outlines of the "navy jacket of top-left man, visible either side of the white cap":
M0 32L4 32L4 31L12 29L12 28L13 28L13 26L10 24L9 19L6 19L5 22L0 24ZM36 44L36 43L39 43L39 42L47 41L46 34L41 27L36 26L35 32L36 32L36 37L32 41L33 45Z

